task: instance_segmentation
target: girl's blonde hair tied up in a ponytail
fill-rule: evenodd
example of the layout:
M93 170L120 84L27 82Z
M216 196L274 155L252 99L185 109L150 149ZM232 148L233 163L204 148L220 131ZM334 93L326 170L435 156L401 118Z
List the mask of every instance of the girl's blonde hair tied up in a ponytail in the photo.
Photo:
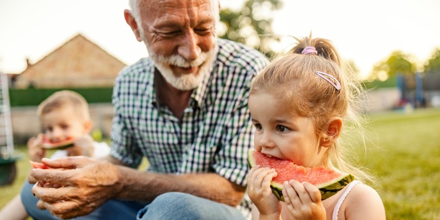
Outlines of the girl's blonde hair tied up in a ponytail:
M364 146L367 139L364 128L366 120L362 114L365 91L360 81L343 66L337 49L329 40L312 39L311 34L295 39L298 43L287 54L272 61L255 78L250 95L268 92L280 97L286 108L313 120L317 137L327 136L326 123L330 118L341 117L344 121L341 138L338 138L341 140L336 139L329 148L324 156L324 164L375 184L372 176L349 162L353 158L348 158L353 154L347 151L350 150L347 146L350 141L347 139L360 137ZM308 46L313 46L317 54L302 54ZM333 76L341 88L336 89L323 78L326 76L318 75L317 71ZM330 77L326 78L337 84Z

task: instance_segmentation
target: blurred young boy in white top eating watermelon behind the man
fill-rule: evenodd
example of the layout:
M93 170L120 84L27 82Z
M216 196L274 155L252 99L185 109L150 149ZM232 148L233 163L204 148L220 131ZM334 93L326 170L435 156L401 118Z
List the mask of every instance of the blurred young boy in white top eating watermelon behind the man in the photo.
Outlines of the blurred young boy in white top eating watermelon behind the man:
M92 128L92 121L87 101L80 94L69 90L55 92L38 106L37 111L44 127L45 138L53 142L68 138L74 139L72 147L58 150L50 158L78 155L102 158L110 153L110 147L107 143L95 142L88 134ZM30 160L41 162L45 157L46 150L42 148L42 141L42 135L37 135L27 142ZM0 211L0 220L24 220L27 218L22 199L33 199L35 203L37 201L32 196L31 187L32 185L28 182L24 183L22 198L17 195L6 204ZM35 210L38 210L36 206Z

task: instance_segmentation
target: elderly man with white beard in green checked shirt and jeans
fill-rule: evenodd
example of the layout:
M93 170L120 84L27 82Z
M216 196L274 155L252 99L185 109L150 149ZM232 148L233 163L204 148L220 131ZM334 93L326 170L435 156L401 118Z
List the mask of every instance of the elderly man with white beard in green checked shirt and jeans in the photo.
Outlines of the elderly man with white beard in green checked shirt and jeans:
M116 79L111 156L44 159L63 169L31 171L39 184L30 205L23 189L27 211L34 219L49 219L47 210L60 218L84 216L78 219L249 219L243 196L254 132L248 89L267 59L217 38L217 0L130 5L125 20L149 58ZM147 172L133 169L143 156ZM37 198L47 210L30 207Z

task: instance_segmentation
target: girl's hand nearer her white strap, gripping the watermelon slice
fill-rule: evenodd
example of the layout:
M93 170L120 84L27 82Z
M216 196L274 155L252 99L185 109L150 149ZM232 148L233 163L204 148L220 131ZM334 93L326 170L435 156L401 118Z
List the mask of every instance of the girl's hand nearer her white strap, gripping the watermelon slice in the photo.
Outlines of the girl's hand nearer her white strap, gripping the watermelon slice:
M290 220L325 220L326 210L319 189L309 182L284 182L283 196Z

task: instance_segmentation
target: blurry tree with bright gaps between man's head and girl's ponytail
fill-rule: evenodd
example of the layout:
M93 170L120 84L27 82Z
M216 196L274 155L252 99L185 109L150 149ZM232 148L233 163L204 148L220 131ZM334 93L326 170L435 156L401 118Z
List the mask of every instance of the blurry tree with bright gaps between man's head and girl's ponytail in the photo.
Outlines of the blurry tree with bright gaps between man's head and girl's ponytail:
M274 52L270 43L277 39L266 36L273 34L272 12L282 7L281 0L245 0L238 12L222 9L220 22L225 31L219 33L219 37L247 44L271 57Z

